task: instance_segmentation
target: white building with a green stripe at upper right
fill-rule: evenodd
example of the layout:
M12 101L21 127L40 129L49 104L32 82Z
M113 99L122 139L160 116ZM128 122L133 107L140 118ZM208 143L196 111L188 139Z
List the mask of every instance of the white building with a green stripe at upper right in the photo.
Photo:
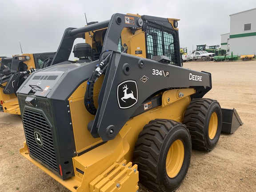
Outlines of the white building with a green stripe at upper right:
M230 33L221 35L221 48L229 55L256 54L256 8L230 15Z

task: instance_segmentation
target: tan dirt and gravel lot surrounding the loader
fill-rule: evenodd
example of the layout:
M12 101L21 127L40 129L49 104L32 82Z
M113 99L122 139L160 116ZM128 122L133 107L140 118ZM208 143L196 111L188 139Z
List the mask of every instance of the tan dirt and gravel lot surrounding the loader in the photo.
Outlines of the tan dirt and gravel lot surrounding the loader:
M184 67L211 72L213 88L204 97L218 100L222 108L236 108L244 125L232 135L221 134L212 152L193 150L188 174L177 191L256 191L256 60L192 61ZM0 191L68 192L19 154L24 140L20 117L0 112Z

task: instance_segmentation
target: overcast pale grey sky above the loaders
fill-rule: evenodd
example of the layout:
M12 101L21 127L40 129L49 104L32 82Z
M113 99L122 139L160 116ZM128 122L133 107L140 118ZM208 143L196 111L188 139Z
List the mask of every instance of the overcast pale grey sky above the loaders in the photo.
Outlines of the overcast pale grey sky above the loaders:
M87 3L88 2L88 3ZM55 52L64 30L139 13L179 21L180 47L220 44L233 13L256 8L256 0L0 0L0 56Z

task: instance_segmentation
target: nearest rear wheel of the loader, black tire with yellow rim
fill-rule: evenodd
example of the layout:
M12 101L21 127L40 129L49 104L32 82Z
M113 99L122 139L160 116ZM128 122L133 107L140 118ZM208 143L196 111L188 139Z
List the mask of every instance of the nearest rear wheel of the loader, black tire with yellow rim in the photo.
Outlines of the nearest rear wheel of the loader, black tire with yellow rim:
M150 121L140 132L133 152L140 183L156 192L175 191L188 172L191 148L184 124L164 119Z

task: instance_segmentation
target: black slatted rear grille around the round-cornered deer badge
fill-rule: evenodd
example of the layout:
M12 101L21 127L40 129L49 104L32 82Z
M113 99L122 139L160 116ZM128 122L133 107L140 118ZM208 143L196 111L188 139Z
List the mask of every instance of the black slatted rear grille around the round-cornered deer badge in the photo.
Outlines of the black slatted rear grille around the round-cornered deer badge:
M58 173L52 132L44 116L38 112L26 109L23 114L23 123L30 155ZM43 147L41 148L36 144L34 136L35 129L39 130L41 133L43 141Z

